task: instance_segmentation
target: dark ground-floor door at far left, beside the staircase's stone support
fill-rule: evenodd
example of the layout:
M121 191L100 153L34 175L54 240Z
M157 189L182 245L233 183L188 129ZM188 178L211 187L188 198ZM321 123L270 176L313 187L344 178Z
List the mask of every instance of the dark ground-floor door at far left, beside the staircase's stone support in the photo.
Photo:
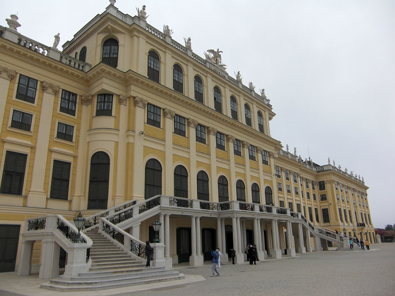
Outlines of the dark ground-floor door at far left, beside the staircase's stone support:
M15 271L21 225L0 225L0 272Z

